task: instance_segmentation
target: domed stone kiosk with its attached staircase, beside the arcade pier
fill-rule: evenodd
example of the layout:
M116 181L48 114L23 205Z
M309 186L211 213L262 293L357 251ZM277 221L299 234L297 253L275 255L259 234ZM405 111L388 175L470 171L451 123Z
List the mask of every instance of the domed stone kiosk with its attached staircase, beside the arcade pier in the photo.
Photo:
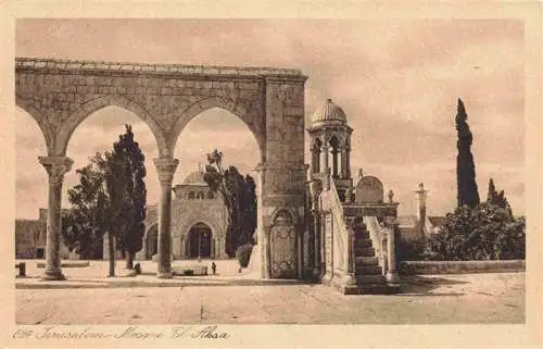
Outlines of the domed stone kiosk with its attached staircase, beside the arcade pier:
M341 107L327 99L306 128L311 141L307 180L306 275L344 294L399 290L394 260L397 202L382 182L358 172L351 176L353 128Z

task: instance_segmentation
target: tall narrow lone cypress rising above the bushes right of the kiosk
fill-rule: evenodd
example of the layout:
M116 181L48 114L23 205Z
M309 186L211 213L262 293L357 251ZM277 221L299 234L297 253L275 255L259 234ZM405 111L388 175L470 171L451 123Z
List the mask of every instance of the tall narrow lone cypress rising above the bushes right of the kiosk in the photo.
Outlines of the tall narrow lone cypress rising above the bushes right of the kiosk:
M479 204L479 191L476 182L473 155L471 154L471 144L473 136L467 123L468 115L464 103L458 98L456 113L456 130L458 133L458 155L456 158L456 180L458 207L468 205L475 208Z

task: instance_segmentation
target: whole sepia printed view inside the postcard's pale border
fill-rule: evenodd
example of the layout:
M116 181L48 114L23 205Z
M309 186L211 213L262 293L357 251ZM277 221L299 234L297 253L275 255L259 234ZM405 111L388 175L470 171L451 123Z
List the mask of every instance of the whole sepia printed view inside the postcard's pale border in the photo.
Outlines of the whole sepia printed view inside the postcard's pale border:
M17 17L13 338L526 325L526 37Z

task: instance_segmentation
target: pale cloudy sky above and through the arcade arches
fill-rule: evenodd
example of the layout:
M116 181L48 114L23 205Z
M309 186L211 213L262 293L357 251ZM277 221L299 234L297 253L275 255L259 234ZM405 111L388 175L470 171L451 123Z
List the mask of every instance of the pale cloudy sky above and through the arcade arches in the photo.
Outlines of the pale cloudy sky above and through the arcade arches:
M15 50L16 57L300 68L308 76L306 120L327 98L344 110L354 128L353 176L359 167L378 176L387 191L394 190L401 215L415 214L421 182L430 215L456 205L454 117L462 98L481 199L493 177L513 211L525 213L525 48L518 21L17 20ZM46 145L29 114L17 109L15 117L16 216L34 219L47 208L47 174L37 161ZM127 123L146 154L148 203L157 201L151 130L131 112L109 107L71 138L67 155L75 163L65 176L63 207L70 207L67 189L78 183L75 169L111 149ZM260 159L242 121L207 110L180 135L174 185L215 148L243 173Z

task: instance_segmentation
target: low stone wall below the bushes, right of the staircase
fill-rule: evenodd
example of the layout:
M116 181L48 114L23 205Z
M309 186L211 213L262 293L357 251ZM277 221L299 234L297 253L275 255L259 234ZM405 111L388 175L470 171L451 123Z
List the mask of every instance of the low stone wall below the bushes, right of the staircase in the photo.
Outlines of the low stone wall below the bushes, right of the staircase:
M403 261L401 275L525 272L525 260L507 261Z

